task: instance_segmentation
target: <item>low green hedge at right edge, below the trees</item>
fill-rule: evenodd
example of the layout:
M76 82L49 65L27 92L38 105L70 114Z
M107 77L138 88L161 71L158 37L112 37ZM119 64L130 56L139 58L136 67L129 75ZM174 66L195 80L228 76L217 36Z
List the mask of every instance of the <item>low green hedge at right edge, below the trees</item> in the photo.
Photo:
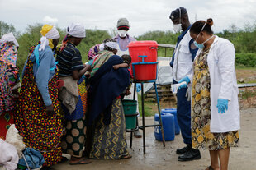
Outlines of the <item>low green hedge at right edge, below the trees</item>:
M236 53L235 54L235 65L254 67L256 66L256 53Z

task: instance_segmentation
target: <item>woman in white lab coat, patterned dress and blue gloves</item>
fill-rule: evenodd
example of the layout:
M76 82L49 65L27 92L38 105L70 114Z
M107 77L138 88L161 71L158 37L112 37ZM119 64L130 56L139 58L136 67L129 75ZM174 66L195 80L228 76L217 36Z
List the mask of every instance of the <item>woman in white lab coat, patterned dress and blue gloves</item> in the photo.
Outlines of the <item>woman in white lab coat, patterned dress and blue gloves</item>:
M214 35L212 24L212 19L197 21L190 29L195 45L201 48L192 75L187 76L192 86L192 147L209 149L211 166L206 170L225 170L230 147L239 142L239 91L234 45Z

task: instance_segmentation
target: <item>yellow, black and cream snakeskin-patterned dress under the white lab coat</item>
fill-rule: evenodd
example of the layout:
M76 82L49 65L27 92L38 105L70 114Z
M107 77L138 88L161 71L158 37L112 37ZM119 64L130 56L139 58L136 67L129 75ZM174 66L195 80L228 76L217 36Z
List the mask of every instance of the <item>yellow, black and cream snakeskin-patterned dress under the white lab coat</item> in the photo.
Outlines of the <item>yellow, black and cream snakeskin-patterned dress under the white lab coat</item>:
M204 49L194 62L192 82L192 147L194 149L220 150L238 146L238 131L211 133L210 72L207 56L210 48Z

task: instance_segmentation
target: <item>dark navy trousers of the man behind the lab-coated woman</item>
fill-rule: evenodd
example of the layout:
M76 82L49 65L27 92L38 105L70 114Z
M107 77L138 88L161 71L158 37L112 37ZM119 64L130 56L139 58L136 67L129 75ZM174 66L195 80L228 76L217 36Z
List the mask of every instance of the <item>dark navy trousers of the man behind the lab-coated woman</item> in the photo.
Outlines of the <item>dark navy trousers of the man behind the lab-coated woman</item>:
M173 80L173 83L178 83ZM192 144L191 140L191 101L187 101L187 88L178 90L177 93L177 119L178 125L182 131L183 142Z

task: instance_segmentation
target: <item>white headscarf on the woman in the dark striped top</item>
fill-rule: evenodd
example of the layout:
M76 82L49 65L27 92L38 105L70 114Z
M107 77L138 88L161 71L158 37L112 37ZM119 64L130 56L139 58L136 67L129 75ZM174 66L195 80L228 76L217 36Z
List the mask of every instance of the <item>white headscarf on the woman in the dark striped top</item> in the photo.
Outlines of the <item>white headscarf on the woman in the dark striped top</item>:
M67 33L76 38L84 38L86 37L85 28L83 25L78 23L72 23L67 28Z

